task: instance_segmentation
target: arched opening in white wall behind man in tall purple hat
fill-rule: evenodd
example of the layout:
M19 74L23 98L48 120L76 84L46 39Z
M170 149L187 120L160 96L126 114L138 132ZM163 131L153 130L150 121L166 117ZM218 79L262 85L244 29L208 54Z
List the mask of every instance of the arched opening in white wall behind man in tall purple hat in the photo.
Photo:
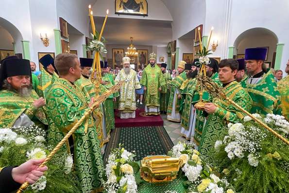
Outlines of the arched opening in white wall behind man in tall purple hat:
M234 58L243 58L246 48L266 47L267 67L274 68L277 36L266 28L252 28L240 34L234 42Z

